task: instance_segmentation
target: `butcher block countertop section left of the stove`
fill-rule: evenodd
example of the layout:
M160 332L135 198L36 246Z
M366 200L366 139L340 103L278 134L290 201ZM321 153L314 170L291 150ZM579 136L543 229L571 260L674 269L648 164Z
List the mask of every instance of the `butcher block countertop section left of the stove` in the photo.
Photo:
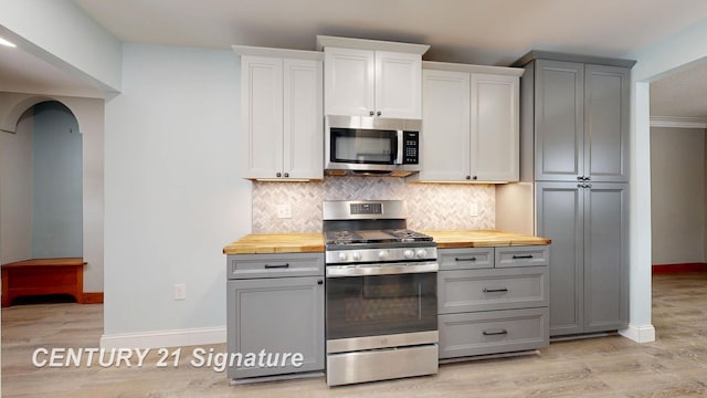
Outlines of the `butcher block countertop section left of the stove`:
M224 254L324 252L321 233L251 233L229 243Z

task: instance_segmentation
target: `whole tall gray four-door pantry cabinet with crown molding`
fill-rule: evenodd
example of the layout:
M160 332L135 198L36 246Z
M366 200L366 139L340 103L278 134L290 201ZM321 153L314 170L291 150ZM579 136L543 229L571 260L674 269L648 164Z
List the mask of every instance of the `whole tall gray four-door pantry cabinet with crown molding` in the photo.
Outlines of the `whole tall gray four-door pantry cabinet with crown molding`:
M629 321L629 104L634 61L531 52L521 77L521 181L552 240L550 336Z

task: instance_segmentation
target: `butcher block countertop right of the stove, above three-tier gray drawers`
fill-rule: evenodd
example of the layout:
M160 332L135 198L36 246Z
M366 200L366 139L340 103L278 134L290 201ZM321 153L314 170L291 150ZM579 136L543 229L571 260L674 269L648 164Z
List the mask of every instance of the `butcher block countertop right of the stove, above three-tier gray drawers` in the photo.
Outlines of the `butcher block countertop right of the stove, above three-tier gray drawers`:
M550 244L547 238L503 231L421 231L434 238L437 248L485 248L503 245Z

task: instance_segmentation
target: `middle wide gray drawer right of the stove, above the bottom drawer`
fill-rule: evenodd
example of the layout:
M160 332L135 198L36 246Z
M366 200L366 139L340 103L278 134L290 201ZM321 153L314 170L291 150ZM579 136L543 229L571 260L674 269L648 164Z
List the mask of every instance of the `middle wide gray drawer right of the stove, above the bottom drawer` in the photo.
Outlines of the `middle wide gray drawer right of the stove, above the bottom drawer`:
M440 314L548 306L547 266L440 271Z

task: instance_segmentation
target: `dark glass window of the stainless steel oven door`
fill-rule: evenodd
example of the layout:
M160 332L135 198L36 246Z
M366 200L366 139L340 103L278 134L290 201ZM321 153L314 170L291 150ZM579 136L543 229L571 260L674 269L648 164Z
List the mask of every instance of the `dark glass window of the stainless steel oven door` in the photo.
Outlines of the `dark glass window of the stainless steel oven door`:
M327 279L327 339L437 329L436 273Z

